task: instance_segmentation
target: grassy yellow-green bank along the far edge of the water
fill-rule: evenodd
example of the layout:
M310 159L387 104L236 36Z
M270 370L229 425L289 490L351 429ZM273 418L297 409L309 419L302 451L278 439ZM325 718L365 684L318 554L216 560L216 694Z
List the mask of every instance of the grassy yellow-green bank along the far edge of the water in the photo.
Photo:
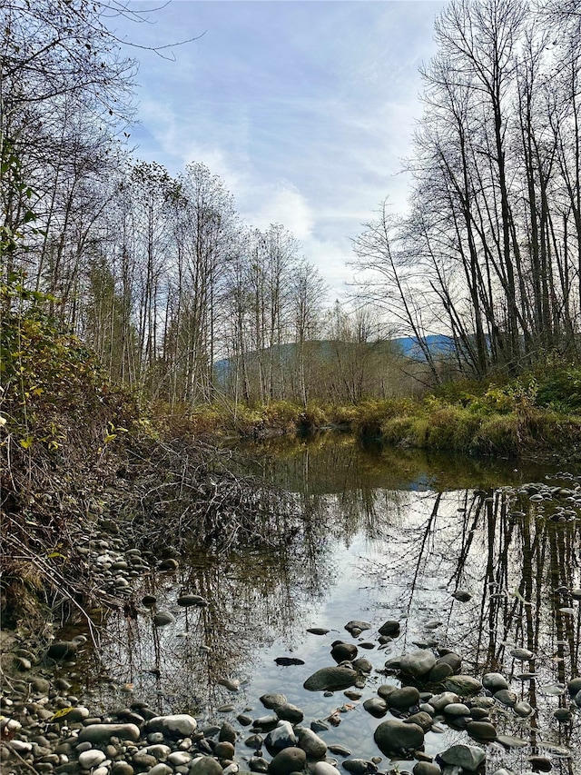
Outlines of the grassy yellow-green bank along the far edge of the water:
M581 413L537 402L510 385L452 400L431 394L420 400L369 400L348 406L221 404L198 408L172 422L179 422L182 432L214 437L268 439L330 429L408 449L515 459L553 453L564 460L581 457Z

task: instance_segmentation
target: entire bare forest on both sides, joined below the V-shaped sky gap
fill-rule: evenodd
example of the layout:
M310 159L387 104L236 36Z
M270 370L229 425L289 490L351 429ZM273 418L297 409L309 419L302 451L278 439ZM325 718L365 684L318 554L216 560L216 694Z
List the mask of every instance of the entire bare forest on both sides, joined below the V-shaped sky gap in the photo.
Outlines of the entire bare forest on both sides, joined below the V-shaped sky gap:
M110 379L171 409L358 402L577 362L576 0L452 0L438 16L409 211L386 200L354 235L343 305L284 225L243 223L206 166L171 175L133 155L136 65L107 21L143 13L2 2L6 321L42 308ZM398 336L417 341L415 363Z

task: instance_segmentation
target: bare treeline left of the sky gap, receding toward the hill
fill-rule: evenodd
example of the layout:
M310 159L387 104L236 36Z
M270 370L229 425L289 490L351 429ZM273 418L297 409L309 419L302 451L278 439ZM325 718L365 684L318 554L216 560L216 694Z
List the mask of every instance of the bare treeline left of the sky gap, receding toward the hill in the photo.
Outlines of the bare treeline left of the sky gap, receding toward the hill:
M325 311L292 234L243 224L203 164L172 176L128 152L135 65L106 23L144 13L1 6L2 312L43 305L113 380L172 407L359 398L369 331Z

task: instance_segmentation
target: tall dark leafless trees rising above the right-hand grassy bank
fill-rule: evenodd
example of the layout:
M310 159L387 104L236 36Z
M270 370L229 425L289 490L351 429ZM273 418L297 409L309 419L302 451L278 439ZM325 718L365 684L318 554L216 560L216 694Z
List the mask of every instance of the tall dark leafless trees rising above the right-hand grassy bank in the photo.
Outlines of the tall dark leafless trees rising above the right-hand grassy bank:
M435 38L409 215L386 204L355 241L364 296L452 333L462 373L577 360L581 4L452 0Z

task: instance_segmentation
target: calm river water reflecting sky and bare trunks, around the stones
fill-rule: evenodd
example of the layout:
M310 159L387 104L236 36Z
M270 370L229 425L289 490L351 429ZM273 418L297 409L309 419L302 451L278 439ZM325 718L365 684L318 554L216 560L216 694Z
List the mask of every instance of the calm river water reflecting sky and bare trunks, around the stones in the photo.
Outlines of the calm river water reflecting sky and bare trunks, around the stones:
M324 697L302 684L333 664L332 641L357 642L344 625L360 619L372 628L359 640L373 648L360 649L359 656L376 671L361 701L340 714L339 726L321 733L328 744L339 742L356 757L378 756L373 730L380 720L363 710L362 700L382 683L398 683L377 672L389 657L435 639L458 651L464 672L481 678L500 671L518 697L537 708L527 720L495 710L498 732L529 746L488 746L487 771L529 770L527 756L548 751L553 771L581 773L581 711L566 724L552 716L569 704L555 685L580 671L580 604L566 591L581 587L581 497L566 502L570 521L554 522L555 502L538 505L518 492L524 482L574 488L575 471L363 450L342 435L245 452L253 472L300 501L302 519L286 548L214 559L192 553L177 573L143 581L136 599L154 592L158 610L172 611L176 622L155 629L145 609L137 620L111 615L101 661L87 650L77 666L75 689L84 701L105 710L148 700L160 712L192 712L202 726L231 720L243 740L247 734L236 716L245 709L252 717L269 713L259 697L281 691L309 725L350 701L342 692ZM457 590L471 599L457 601ZM208 607L181 609L176 600L182 591L201 594ZM401 621L401 636L379 649L377 631L387 619ZM308 633L314 626L330 632ZM537 658L530 665L514 661L508 653L514 646ZM282 656L305 664L279 667L274 660ZM534 675L522 678L524 671ZM240 681L240 689L226 689L223 679ZM435 755L457 740L470 741L443 725L426 735L426 750ZM246 753L251 756L240 742L237 756ZM410 771L413 764L401 761L399 769Z

